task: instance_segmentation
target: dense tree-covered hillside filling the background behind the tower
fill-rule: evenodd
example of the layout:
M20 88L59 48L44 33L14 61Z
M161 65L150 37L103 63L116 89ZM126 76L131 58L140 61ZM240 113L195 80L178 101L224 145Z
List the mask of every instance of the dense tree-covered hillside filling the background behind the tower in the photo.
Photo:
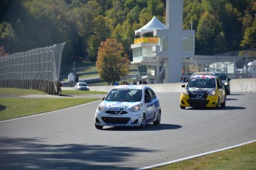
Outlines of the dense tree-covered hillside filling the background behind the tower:
M256 47L255 0L183 0L183 29L196 31L195 54ZM165 0L1 0L1 54L66 42L62 62L96 62L102 41L114 38L132 61L134 31L156 16Z

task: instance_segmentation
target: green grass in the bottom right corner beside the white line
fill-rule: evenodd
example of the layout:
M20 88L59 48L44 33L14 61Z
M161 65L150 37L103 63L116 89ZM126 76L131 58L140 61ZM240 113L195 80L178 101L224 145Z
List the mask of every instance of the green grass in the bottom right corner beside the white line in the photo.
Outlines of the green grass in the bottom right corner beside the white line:
M206 156L183 160L168 166L160 166L153 170L240 170L256 169L256 143L249 143L234 149L229 149Z

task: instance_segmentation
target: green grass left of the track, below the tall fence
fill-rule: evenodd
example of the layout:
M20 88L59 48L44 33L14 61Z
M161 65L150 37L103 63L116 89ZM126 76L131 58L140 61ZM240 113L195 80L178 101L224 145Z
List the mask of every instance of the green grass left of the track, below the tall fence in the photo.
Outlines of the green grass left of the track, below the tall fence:
M106 92L63 90L62 95L106 94ZM101 98L19 98L22 95L45 95L35 89L0 88L0 120L36 115L83 103L101 100ZM11 98L4 98L11 97Z

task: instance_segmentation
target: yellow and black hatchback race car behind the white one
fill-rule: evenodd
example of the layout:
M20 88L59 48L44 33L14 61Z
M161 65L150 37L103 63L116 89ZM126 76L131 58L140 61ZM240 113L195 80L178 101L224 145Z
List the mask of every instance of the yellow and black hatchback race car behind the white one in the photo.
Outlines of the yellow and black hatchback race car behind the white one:
M180 95L180 109L191 107L226 106L226 91L220 78L214 75L193 75L183 84Z

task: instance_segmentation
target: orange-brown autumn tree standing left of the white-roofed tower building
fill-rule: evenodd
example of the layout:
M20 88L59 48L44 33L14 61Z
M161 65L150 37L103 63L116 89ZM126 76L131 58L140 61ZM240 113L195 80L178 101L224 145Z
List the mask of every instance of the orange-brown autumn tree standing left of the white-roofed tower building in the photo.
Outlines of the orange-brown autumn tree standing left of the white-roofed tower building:
M96 69L99 77L108 83L120 81L121 76L128 75L128 55L123 55L124 47L114 38L102 41L99 47Z

